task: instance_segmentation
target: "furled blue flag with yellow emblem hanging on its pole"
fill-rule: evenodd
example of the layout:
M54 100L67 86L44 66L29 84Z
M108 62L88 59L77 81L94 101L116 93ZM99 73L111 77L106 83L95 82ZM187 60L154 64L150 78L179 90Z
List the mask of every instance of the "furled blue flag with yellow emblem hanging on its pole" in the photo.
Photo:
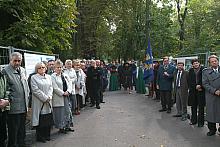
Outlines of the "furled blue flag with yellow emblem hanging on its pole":
M144 65L144 80L145 84L149 84L154 78L153 73L153 55L150 45L150 38L148 39L147 50L145 53L145 65Z

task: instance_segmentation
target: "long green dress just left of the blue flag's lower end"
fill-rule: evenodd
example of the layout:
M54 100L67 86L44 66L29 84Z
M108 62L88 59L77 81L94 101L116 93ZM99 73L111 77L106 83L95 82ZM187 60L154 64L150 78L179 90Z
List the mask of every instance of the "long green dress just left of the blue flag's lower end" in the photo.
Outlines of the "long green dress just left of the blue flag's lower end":
M145 94L145 84L144 84L144 78L143 78L143 70L141 67L138 68L138 78L137 78L137 93Z

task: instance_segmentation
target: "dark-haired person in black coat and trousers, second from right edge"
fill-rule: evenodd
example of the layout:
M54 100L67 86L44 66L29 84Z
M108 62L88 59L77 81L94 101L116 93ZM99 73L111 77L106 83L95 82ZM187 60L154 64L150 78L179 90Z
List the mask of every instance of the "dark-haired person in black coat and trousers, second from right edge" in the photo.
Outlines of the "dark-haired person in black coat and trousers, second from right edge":
M190 125L198 123L198 127L204 125L204 107L205 107L205 89L202 86L202 70L198 59L192 60L192 68L189 69L189 99L188 104L191 106ZM198 108L198 116L197 116Z

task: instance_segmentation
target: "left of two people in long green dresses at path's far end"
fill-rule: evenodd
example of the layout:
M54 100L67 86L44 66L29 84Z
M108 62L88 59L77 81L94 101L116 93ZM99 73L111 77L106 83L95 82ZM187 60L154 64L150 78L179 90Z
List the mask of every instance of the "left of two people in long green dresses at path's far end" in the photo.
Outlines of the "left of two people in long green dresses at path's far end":
M116 91L118 90L118 71L115 62L112 62L112 66L110 67L110 84L109 84L109 91Z

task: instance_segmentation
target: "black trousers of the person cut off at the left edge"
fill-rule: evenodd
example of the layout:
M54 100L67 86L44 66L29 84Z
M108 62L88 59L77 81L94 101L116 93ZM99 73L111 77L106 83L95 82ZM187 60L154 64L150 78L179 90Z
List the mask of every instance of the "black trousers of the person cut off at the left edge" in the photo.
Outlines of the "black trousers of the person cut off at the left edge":
M0 109L0 146L5 147L5 141L7 139L7 112Z

